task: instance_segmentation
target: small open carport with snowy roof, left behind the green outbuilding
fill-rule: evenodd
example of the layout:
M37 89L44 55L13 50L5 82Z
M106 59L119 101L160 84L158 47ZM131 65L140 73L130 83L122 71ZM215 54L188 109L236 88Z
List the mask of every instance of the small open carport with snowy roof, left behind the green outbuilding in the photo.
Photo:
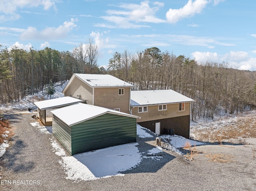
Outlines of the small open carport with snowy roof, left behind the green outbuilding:
M34 102L34 104L37 106L37 116L39 120L42 122L45 126L51 126L52 125L52 113L47 112L47 110L51 110L54 108L61 108L64 106L76 104L79 102L85 102L84 100L73 98L70 96L61 97L61 98L55 98L50 100L43 100Z

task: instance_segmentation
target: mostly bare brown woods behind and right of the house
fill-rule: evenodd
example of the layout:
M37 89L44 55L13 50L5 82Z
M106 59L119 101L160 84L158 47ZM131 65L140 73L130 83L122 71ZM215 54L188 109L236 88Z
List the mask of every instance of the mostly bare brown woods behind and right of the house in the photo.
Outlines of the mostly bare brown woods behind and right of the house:
M136 90L172 89L188 96L192 120L213 119L256 106L256 72L241 71L227 62L198 63L156 47L129 53L114 53L109 60L110 74L132 83Z

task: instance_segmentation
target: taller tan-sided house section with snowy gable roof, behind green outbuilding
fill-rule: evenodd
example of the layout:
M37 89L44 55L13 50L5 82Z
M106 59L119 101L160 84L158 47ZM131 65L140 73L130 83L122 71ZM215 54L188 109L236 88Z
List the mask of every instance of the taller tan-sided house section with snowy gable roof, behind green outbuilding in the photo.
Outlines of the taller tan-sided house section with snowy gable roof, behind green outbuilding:
M111 75L74 73L62 93L85 100L90 105L130 114L132 87Z

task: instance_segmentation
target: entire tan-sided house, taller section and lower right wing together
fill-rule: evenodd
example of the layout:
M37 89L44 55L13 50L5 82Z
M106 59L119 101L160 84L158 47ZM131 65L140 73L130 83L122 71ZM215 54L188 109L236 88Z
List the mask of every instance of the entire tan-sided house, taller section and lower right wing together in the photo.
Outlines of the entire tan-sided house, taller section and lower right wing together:
M131 91L133 85L111 75L72 75L63 90L65 96L87 104L139 116L137 123L156 134L189 138L190 105L194 102L173 90Z

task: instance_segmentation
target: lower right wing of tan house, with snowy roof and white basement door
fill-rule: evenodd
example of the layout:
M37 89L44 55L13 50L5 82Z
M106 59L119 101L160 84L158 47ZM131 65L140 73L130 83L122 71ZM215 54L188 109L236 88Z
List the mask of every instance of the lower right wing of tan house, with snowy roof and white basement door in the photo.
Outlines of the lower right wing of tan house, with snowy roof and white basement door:
M131 91L131 114L137 123L156 134L174 134L189 138L190 105L194 102L173 90Z

